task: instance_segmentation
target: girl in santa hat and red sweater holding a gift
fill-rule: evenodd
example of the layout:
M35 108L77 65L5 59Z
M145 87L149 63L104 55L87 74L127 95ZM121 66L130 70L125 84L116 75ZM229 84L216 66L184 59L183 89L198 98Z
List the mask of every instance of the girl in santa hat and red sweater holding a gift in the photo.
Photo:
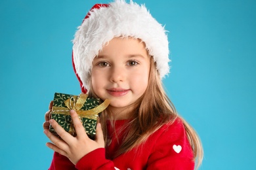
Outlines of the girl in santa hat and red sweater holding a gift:
M194 169L202 161L196 132L177 115L161 78L169 73L165 29L148 10L117 0L95 5L75 33L73 66L83 93L110 99L95 141L74 110L76 137L45 114L50 169ZM51 109L51 105L50 108ZM49 124L61 139L49 132Z

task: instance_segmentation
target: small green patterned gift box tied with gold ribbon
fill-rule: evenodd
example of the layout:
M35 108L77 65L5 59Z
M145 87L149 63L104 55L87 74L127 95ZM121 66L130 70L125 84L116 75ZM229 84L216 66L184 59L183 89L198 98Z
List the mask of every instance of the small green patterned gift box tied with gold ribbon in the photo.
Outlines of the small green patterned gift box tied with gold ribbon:
M96 123L98 120L98 113L102 112L110 101L106 99L100 104L100 99L87 97L87 94L69 95L64 93L55 93L53 100L53 109L50 113L50 119L56 120L58 124L68 131L73 136L76 136L70 110L75 110L85 128L87 135L91 139L95 139ZM54 135L58 136L56 131L50 125L49 130Z

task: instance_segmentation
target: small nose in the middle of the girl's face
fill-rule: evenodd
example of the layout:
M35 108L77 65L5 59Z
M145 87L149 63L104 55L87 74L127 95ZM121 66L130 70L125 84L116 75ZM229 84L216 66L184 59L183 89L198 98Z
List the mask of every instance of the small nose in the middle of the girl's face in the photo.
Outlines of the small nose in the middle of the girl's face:
M112 67L110 73L111 82L123 82L126 77L126 71L124 67Z

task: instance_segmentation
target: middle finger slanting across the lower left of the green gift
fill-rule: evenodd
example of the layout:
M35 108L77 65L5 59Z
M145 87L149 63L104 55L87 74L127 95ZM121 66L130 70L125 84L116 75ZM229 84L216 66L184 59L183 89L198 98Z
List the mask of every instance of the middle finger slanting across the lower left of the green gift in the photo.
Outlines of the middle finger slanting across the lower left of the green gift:
M68 144L73 143L74 137L72 135L70 135L70 133L66 132L55 120L51 119L51 120L49 120L49 123L51 124L53 129L56 131L56 133L60 136L60 138L63 139L63 141L65 141ZM58 137L56 137L56 138L58 139ZM54 144L56 144L56 141L58 142L58 140L56 140L56 138L53 137L54 141L52 141L52 142Z

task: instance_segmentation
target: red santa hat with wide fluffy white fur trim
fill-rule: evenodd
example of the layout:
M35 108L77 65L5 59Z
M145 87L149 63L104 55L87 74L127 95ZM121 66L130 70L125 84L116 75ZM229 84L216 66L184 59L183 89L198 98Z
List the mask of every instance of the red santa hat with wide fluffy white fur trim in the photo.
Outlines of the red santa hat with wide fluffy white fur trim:
M93 59L114 37L134 37L146 44L161 78L169 73L169 46L164 27L144 5L116 0L96 4L85 16L74 37L72 62L83 93L89 90Z

